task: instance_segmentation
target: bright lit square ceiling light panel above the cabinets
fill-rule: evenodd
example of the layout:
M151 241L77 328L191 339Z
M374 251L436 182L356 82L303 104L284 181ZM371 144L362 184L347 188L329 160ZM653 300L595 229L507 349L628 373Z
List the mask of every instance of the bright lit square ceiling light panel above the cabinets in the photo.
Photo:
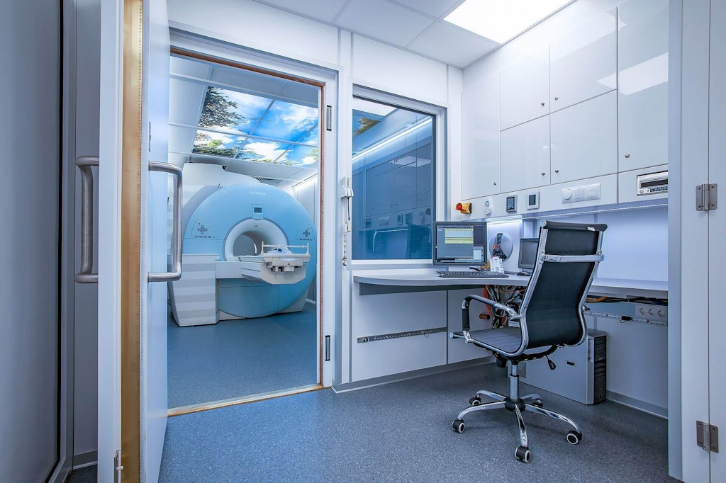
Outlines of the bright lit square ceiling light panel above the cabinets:
M572 0L466 0L444 20L504 44Z

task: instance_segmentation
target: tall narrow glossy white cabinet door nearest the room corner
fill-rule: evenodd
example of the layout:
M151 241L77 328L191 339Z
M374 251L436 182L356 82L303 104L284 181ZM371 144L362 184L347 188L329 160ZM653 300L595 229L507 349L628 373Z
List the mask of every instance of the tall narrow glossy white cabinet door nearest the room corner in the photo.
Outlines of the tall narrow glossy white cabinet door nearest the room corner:
M462 94L461 197L499 193L499 74L465 85Z

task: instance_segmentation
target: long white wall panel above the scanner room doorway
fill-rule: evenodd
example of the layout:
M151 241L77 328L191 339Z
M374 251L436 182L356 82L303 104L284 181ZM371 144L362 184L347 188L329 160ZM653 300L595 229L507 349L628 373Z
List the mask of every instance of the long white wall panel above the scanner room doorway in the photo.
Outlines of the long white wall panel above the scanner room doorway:
M307 62L338 62L338 29L250 0L168 1L169 25Z

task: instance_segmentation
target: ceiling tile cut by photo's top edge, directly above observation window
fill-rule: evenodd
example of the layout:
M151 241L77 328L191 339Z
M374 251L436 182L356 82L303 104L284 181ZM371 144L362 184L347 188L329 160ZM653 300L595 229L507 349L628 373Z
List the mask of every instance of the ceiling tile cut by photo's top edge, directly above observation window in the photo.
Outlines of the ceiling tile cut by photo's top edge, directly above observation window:
M340 27L405 46L434 20L384 0L352 0L335 21Z

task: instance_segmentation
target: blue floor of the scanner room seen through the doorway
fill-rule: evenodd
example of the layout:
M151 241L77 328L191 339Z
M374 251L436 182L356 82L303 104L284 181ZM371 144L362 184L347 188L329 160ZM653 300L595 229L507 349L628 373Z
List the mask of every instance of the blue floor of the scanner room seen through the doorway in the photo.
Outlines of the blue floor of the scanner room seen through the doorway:
M179 327L168 320L168 407L317 383L316 306Z

